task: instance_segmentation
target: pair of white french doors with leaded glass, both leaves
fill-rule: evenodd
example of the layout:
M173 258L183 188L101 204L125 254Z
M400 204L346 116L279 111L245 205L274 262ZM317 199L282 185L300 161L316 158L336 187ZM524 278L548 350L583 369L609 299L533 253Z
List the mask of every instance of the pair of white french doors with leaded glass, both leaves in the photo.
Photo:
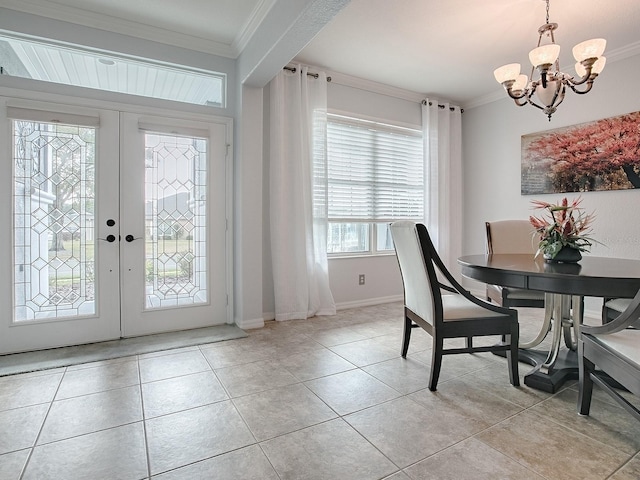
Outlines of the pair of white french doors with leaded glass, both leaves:
M226 123L2 100L0 353L228 321Z

